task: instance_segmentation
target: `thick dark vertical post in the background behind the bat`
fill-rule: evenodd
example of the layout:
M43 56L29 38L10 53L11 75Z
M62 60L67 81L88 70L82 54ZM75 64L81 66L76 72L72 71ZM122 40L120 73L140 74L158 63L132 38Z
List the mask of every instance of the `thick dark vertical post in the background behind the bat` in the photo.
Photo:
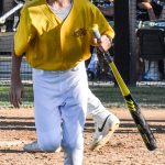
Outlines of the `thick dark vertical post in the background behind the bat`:
M134 54L135 14L130 12L132 0L114 1L114 62L127 85L135 85L136 59ZM131 15L132 14L132 15ZM134 31L134 33L133 33Z

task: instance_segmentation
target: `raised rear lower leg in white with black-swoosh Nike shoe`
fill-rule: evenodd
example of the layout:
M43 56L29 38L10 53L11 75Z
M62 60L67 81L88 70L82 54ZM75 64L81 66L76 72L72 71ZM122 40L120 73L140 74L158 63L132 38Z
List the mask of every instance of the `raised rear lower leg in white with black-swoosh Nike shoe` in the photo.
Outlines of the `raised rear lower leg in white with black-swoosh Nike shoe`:
M91 142L91 150L99 150L103 146L113 132L119 128L119 119L106 110L100 100L88 90L88 114L91 114L95 121L95 134Z

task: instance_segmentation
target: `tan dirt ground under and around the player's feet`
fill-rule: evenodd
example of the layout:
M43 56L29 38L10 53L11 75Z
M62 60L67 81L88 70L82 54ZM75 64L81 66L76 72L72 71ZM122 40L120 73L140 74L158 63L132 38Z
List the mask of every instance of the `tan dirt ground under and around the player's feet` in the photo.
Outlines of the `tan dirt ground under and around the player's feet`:
M94 121L85 128L84 165L165 165L165 109L142 108L158 148L147 151L125 108L111 108L121 120L119 130L99 151L90 151ZM63 165L63 152L26 153L24 143L36 140L33 109L0 108L0 165Z

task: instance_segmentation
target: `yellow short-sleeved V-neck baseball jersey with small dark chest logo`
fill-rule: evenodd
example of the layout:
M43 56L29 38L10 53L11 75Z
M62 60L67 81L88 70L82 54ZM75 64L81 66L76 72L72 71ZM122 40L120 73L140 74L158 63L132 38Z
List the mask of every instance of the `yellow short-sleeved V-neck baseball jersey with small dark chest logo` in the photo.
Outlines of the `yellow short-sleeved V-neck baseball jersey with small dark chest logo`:
M34 68L66 70L90 57L94 24L101 34L114 37L100 10L88 0L74 0L67 18L62 21L46 0L34 0L21 10L14 35L16 56L25 53Z

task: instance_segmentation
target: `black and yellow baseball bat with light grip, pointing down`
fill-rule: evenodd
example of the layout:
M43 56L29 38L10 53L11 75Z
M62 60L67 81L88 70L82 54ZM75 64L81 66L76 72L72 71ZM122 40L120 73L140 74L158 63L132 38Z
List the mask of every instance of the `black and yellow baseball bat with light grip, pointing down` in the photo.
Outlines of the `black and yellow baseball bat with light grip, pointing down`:
M95 24L92 26L92 33L94 33L95 37L99 41L100 33L99 33L97 24ZM120 73L118 72L118 68L116 67L112 56L110 55L109 52L106 52L106 51L102 51L102 54L105 55L106 61L108 62L112 73L113 73L113 76L118 82L118 86L120 87L120 90L125 100L128 109L136 124L136 128L143 139L144 144L146 145L147 150L150 150L150 151L157 148L156 140L153 135L153 132L152 132L150 125L147 124L144 116L142 114L139 105L132 97L128 86L125 85Z

